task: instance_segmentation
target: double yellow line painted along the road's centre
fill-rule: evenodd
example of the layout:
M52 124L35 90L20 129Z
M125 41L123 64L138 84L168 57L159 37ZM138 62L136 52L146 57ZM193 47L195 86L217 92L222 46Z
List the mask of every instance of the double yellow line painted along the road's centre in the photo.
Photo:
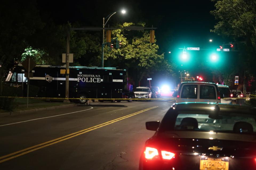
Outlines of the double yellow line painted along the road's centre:
M31 147L29 147L29 148L25 148L25 149L23 149L23 150L20 150L20 151L17 151L17 152L13 152L13 153L8 154L8 155L5 155L5 156L1 156L1 157L0 157L0 163L5 162L5 161L10 160L10 159L17 158L17 157L19 157L19 156L28 154L28 153L33 152L33 151L36 151L36 150L39 150L39 149L41 149L41 148L44 148L44 147L53 145L53 144L55 144L55 143L59 143L59 142L65 141L65 140L67 140L67 139L74 138L74 137L76 137L76 136L78 136L78 135L82 135L82 134L87 133L87 132L89 132L89 131L92 131L92 130L101 128L101 127L103 127L103 126L107 126L107 125L109 125L109 124L115 123L115 122L117 122L117 121L126 119L126 118L128 118L128 117L134 116L134 115L139 114L139 113L142 113L142 112L146 112L146 111L148 111L148 110L150 110L150 109L154 109L154 108L157 108L157 107L158 107L158 106L154 106L154 107L151 107L151 108L147 108L147 109L144 109L144 110L141 110L141 111L138 111L138 112L135 112L135 113L132 113L132 114L128 114L128 115L126 115L126 116L119 117L119 118L117 118L117 119L114 119L114 120L105 122L105 123L103 123L103 124L99 124L99 125L96 125L96 126L87 128L87 129L83 129L83 130L77 131L77 132L75 132L75 133L71 133L71 134L68 134L68 135L66 135L66 136L63 136L63 137L60 137L60 138L57 138L57 139L53 139L53 140L51 140L51 141L47 141L47 142L44 142L44 143L40 143L40 144L38 144L38 145L31 146Z

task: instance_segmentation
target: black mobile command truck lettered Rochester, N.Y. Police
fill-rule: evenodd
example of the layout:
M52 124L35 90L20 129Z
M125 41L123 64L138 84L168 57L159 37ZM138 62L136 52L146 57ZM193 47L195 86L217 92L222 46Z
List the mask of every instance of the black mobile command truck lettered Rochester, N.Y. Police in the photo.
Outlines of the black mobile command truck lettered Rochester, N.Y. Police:
M29 97L57 97L65 98L65 74L61 74L64 66L37 65L31 71L33 77L29 78L30 86L34 87L34 96ZM117 70L115 67L69 67L69 98L76 103L86 103L85 98L113 99L122 98L123 78L125 70ZM31 74L31 73L30 73ZM26 96L27 78L22 65L16 65L10 69L6 83L17 86L22 95Z

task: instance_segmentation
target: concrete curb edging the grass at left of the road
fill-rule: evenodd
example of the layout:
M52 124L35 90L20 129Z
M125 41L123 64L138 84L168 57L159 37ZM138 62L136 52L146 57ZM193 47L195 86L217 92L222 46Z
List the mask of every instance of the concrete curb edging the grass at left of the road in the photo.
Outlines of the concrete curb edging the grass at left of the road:
M48 111L48 110L75 107L75 106L76 106L76 104L68 104L68 105L62 105L62 106L53 106L53 107L46 107L46 108L29 109L29 110L25 110L25 111L5 112L5 113L0 113L0 117L17 116L17 115L22 115L22 114L35 113L35 112L38 112L38 111Z

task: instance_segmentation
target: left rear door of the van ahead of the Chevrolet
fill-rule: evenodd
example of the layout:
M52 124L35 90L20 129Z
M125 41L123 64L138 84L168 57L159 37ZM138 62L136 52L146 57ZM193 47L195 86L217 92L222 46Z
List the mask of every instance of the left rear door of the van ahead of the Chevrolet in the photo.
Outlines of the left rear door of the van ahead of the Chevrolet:
M177 103L198 102L198 84L183 84L180 98Z

